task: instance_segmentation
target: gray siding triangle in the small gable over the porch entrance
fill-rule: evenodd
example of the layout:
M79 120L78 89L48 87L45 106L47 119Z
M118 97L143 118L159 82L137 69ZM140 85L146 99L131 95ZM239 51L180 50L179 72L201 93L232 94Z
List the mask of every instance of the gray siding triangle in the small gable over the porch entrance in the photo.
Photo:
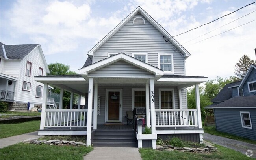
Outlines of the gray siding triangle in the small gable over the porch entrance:
M104 68L93 71L89 73L88 76L154 77L152 73L149 73L134 65L128 64L122 60L115 62L114 64L108 65Z

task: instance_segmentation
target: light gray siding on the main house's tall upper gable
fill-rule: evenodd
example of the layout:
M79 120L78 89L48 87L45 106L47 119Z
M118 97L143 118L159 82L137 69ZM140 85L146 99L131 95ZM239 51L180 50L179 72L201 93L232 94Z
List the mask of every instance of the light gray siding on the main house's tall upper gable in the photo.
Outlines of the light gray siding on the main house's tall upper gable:
M140 13L134 16L142 16ZM172 53L174 74L184 75L184 57L163 40L163 35L145 19L145 24L132 24L132 18L94 53L93 63L108 57L108 53L147 53L148 64L158 67L158 53Z

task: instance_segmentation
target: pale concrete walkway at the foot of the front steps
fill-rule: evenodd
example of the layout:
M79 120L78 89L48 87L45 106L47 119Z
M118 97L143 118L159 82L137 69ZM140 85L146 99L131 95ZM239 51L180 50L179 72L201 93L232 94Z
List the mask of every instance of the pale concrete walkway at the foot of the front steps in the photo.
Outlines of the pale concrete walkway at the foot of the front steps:
M83 160L141 160L135 147L93 147Z

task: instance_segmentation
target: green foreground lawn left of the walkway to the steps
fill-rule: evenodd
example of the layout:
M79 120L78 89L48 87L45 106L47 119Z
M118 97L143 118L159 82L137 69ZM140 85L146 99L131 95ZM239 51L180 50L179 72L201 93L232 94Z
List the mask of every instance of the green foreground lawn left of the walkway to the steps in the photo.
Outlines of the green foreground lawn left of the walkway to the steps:
M83 160L92 147L15 144L1 149L1 160Z

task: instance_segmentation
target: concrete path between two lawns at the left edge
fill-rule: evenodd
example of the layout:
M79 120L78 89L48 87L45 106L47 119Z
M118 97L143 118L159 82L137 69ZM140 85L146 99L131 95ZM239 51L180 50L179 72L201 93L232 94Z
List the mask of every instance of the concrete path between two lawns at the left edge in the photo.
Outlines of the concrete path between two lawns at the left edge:
M22 142L26 139L38 139L41 136L38 135L38 131L35 132L30 132L26 133L23 135L17 135L17 136L12 136L8 138L2 138L0 139L0 148L7 147L9 145L17 144L19 142Z

